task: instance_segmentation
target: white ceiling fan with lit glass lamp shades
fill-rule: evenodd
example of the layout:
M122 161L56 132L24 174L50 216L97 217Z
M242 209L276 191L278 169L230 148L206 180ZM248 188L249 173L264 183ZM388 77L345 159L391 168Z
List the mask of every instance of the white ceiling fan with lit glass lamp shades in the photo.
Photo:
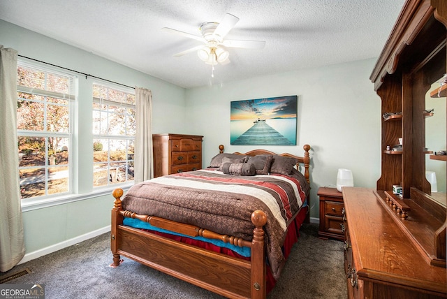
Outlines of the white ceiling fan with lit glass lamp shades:
M187 38L193 38L196 41L201 41L205 45L198 45L188 50L184 50L175 54L175 57L183 56L190 52L197 51L198 57L205 61L206 64L228 64L229 53L226 48L246 48L246 49L262 49L265 46L265 41L239 41L224 39L228 32L233 29L235 24L239 21L238 17L226 13L220 23L205 22L200 25L200 32L202 36L196 36L184 31L179 31L171 28L162 28L163 31L168 31L174 34L180 34Z

